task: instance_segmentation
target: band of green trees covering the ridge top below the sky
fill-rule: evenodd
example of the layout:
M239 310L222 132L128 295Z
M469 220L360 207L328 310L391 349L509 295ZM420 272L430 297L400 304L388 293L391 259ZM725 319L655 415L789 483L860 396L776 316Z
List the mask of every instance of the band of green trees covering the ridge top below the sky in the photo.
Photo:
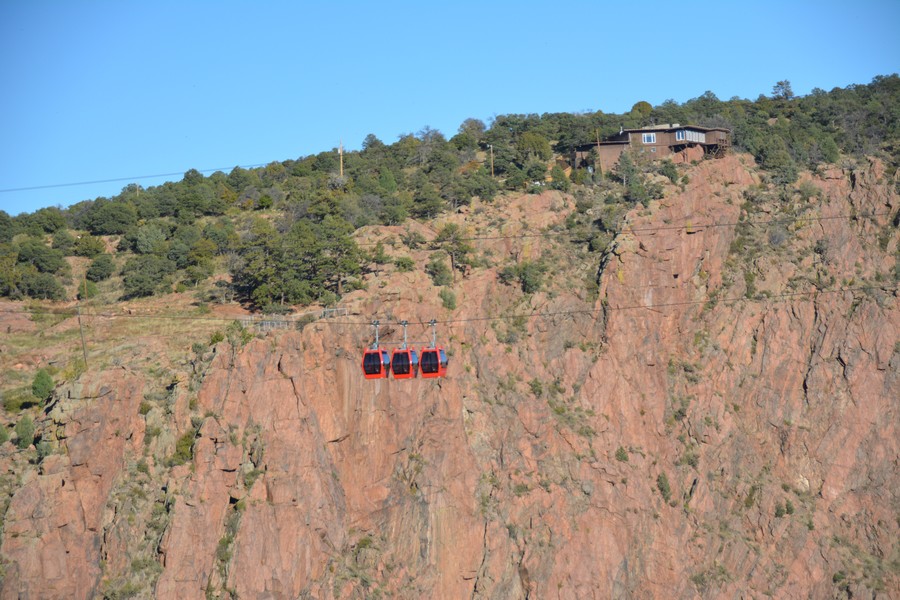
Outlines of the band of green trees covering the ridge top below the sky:
M706 92L681 104L637 102L625 114L512 114L489 125L467 119L449 139L429 127L391 144L368 135L359 151L344 154L343 174L332 149L208 177L192 169L178 182L131 184L67 209L0 211L0 296L65 299L65 284L76 287L66 257L76 256L90 260L77 286L84 295L114 276L124 298L190 288L225 265L229 293L259 308L327 303L376 261L354 243L359 227L430 219L504 190L594 185L600 174L566 161L577 146L622 127L728 128L734 146L781 184L842 156L880 154L896 167L898 92L897 75L803 97L780 81L756 100ZM628 158L602 176L617 178L631 201L654 195Z

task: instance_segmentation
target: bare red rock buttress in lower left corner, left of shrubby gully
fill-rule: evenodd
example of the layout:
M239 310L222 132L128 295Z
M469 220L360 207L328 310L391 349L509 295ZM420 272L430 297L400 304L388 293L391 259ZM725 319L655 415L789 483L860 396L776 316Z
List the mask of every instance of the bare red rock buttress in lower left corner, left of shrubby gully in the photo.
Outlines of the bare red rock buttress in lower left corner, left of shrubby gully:
M61 424L67 455L45 458L12 499L0 596L97 595L107 501L125 455L143 441L141 398L141 381L116 370L85 375L60 401L71 411Z

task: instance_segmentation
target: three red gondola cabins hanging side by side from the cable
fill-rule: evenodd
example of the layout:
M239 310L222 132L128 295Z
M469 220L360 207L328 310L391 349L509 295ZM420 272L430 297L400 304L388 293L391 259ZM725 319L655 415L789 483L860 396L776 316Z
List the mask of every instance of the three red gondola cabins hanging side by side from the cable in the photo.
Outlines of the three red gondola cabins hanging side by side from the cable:
M432 319L431 345L416 352L406 340L406 328L409 323L401 321L403 326L403 344L394 348L390 356L388 351L378 343L378 321L372 321L375 328L375 341L363 352L362 370L366 379L387 379L391 372L394 379L415 379L420 374L424 379L446 377L449 359L444 348L437 345L437 321Z

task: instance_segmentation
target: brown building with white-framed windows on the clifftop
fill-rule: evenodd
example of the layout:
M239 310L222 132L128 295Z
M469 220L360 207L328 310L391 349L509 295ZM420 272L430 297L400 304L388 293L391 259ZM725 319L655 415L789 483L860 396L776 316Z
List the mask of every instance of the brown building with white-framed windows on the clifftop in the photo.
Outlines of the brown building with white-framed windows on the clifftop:
M612 169L626 148L647 152L653 158L670 158L675 162L690 162L704 155L722 156L728 149L730 132L719 127L698 127L678 123L654 125L641 129L622 129L602 142L583 144L575 148L574 165L599 166L604 172ZM592 152L596 159L591 165Z

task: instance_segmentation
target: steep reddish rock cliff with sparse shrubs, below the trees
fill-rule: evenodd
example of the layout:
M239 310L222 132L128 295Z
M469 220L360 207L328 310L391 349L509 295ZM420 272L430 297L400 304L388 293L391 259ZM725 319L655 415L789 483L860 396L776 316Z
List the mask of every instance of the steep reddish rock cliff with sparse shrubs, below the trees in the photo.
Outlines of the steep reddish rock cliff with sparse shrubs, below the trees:
M6 398L58 385L0 445L0 597L900 594L896 173L773 173L361 223L345 313L108 300L86 370L71 312L4 301ZM373 318L440 321L448 376L363 379Z

